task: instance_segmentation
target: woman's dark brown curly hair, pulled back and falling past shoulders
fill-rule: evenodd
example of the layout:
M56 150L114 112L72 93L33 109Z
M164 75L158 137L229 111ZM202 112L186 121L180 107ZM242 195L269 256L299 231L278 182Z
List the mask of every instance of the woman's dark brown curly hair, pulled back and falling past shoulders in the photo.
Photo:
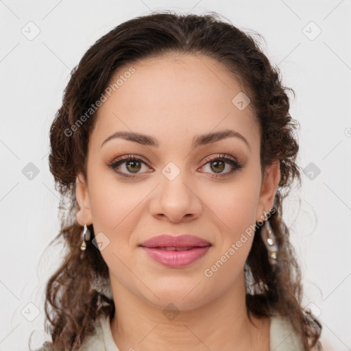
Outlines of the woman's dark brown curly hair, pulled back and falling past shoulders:
M49 167L61 195L61 227L53 241L62 237L67 250L46 286L45 322L52 339L46 345L51 350L78 350L93 334L97 317L114 316L114 302L107 293L108 266L91 240L80 257L82 227L74 216L79 209L75 180L77 173L86 176L88 140L97 120L98 109L91 113L90 106L101 98L119 67L169 53L216 60L237 78L250 98L261 133L261 170L279 160L281 178L274 197L275 210L269 217L278 260L274 269L261 239L261 228L256 226L245 262L247 314L269 317L279 313L289 319L304 350L322 350L322 325L311 311L302 308L302 274L289 242L289 228L282 219L282 200L295 180L301 184L300 167L295 162L299 123L289 114L287 95L289 91L295 93L282 85L278 67L269 62L254 35L222 21L216 12L183 15L171 11L121 23L99 38L71 71L62 106L50 129ZM87 111L91 116L82 123ZM93 239L93 225L88 229Z

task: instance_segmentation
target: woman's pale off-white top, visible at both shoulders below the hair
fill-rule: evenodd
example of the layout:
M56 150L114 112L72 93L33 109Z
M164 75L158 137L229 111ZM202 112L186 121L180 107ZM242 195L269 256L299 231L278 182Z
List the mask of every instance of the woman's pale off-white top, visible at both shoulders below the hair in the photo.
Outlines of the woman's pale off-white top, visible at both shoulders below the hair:
M271 317L269 329L269 349L271 351L302 351L302 342L295 334L287 319L278 315ZM101 317L95 322L95 334L90 335L80 351L119 351L110 328L108 317ZM39 350L40 351L40 350Z

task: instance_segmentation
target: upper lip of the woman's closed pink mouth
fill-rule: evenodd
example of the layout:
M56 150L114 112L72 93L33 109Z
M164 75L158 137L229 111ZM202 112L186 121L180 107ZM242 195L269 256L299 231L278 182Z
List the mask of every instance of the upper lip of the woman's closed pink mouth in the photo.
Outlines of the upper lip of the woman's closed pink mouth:
M158 237L152 237L144 241L139 246L144 247L204 247L211 245L207 240L193 235L183 234L177 237L172 235L162 234Z

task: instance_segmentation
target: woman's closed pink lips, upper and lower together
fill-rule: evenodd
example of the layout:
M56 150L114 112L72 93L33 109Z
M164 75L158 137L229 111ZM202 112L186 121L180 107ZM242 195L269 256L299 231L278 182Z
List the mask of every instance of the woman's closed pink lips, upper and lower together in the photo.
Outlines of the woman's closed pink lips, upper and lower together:
M160 235L153 237L140 245L158 263L167 267L184 267L203 256L211 244L193 235ZM161 248L163 247L163 248Z

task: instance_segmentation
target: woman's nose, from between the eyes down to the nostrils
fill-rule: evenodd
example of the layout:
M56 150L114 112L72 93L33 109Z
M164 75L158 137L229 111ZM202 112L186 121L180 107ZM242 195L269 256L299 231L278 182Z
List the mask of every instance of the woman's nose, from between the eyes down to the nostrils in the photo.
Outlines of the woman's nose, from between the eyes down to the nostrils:
M149 210L158 219L168 219L173 223L192 221L203 210L199 191L192 186L185 172L174 179L160 176L160 184L149 202Z

